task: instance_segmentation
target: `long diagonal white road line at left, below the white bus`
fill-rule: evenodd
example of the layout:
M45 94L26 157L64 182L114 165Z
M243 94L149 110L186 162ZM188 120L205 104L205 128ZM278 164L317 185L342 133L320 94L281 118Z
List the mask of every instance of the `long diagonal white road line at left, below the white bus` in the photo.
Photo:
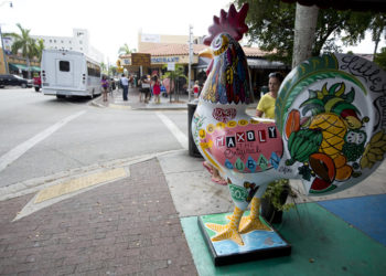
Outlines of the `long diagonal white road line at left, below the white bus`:
M33 148L36 144L47 138L50 135L54 134L56 130L58 130L61 127L65 126L71 120L79 117L81 115L85 114L86 110L78 112L74 115L71 115L60 121L57 121L55 125L44 129L42 132L35 135L31 139L20 144L19 146L14 147L10 151L8 151L6 155L0 157L0 172L4 170L8 166L10 166L12 162L14 162L19 157L24 155L28 150Z

